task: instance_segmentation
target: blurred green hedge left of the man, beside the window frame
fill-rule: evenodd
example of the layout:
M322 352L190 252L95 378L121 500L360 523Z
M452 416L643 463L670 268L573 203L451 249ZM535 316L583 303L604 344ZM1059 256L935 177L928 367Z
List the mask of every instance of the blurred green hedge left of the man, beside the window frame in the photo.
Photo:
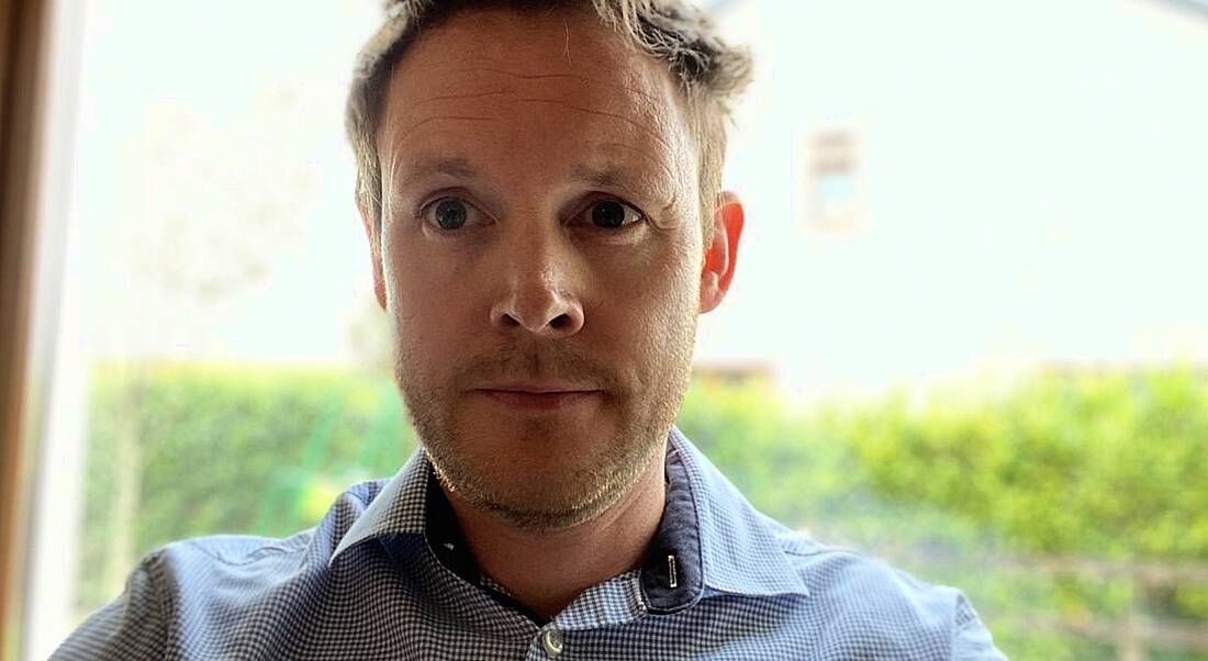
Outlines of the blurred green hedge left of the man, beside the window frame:
M133 441L135 452L120 448ZM281 537L315 524L349 485L393 475L414 448L393 383L355 373L110 365L94 376L81 597L175 539ZM137 516L115 493L134 480ZM115 540L129 540L130 557ZM105 574L104 567L123 568Z

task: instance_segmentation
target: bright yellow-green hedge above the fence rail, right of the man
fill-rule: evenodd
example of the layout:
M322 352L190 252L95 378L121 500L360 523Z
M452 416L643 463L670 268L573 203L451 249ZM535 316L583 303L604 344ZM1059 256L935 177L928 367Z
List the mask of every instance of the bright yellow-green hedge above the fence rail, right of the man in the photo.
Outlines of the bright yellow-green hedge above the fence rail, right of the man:
M1018 549L1208 558L1208 383L1186 370L1045 375L998 401L896 396L830 423L878 491Z

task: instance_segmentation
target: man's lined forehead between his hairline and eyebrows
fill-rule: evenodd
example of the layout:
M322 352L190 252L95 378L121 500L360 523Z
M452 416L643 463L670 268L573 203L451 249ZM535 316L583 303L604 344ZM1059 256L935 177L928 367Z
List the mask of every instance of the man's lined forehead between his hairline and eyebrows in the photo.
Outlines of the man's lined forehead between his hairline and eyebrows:
M434 141L573 145L667 168L695 161L686 126L667 66L594 15L490 8L454 15L411 45L391 75L378 141L394 157Z

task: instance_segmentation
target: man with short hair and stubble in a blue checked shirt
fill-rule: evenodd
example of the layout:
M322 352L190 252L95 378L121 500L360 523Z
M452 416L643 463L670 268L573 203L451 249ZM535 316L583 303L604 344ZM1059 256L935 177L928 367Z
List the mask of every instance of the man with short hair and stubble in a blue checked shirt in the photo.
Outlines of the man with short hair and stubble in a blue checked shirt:
M959 592L756 512L673 428L748 77L679 0L403 1L348 128L423 445L284 540L172 544L62 659L999 659Z

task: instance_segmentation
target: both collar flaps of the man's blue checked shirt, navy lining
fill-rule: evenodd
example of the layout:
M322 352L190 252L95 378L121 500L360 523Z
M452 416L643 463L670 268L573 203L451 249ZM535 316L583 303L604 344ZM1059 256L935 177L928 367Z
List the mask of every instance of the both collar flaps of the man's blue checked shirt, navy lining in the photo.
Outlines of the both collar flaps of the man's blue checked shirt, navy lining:
M667 505L641 572L651 611L687 608L705 587L748 596L808 595L784 555L788 530L756 511L674 427L666 465ZM424 534L431 471L426 454L417 451L348 528L327 566L370 539Z

